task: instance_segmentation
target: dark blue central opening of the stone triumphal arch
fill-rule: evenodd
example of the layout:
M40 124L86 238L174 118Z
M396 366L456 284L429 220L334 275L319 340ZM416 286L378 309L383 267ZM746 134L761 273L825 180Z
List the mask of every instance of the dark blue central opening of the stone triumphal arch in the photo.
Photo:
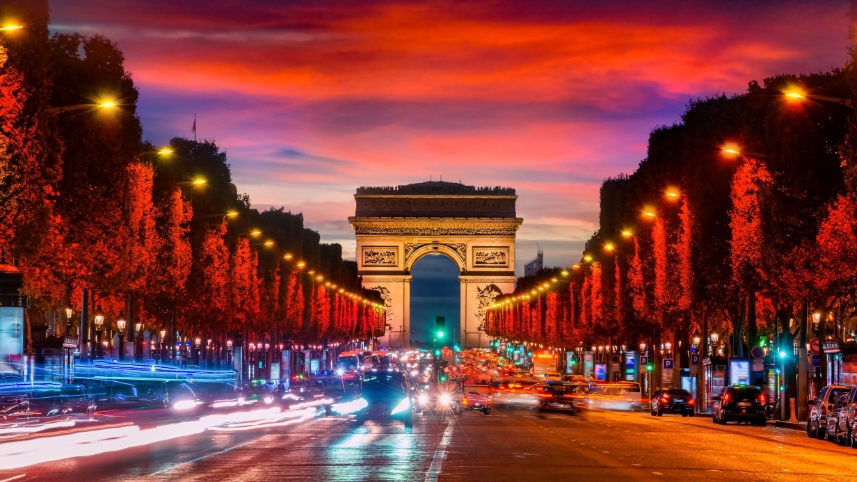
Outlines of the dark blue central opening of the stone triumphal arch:
M411 346L431 349L435 320L443 316L444 345L460 346L461 286L458 265L440 253L429 253L411 268Z

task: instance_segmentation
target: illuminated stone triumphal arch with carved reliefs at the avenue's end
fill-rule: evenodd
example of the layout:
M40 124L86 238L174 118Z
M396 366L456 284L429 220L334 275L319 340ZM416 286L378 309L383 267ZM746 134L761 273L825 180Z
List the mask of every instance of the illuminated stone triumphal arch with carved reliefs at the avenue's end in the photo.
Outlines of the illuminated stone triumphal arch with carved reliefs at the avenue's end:
M515 190L428 181L398 187L363 187L348 218L357 237L363 287L381 292L387 333L381 345L411 343L411 267L429 253L458 266L460 338L464 347L488 346L485 308L515 286ZM432 320L434 322L434 320Z

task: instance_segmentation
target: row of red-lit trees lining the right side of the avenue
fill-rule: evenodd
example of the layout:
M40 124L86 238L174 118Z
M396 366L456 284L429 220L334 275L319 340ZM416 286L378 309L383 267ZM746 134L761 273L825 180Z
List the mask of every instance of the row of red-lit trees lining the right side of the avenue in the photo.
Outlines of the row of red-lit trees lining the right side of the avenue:
M784 95L793 89L808 98ZM581 262L518 280L489 310L488 333L545 346L678 346L707 326L746 356L771 334L790 350L809 306L822 339L848 338L855 93L849 64L692 101L679 124L652 131L636 172L604 181L600 228Z

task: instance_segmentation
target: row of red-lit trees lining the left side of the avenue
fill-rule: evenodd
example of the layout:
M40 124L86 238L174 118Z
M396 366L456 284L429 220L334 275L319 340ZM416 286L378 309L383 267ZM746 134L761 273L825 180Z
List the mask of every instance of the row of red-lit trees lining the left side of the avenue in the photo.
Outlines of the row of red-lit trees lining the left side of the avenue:
M177 137L161 154L141 141L109 39L49 37L46 0L3 2L0 18L23 26L0 37L0 244L35 306L80 312L86 288L108 327L124 312L153 331L176 316L189 336L383 333L357 264L302 214L250 208L214 142ZM94 106L107 99L117 106Z

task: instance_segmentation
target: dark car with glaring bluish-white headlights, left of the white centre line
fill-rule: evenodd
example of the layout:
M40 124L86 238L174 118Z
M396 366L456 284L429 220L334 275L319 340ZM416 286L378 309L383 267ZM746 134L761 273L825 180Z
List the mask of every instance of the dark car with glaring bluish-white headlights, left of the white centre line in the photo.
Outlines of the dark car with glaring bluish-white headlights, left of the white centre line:
M362 406L351 412L359 423L365 420L399 420L408 427L413 423L411 388L407 377L400 371L379 371L363 375L360 396L345 403L356 404L349 408ZM343 413L342 406L343 404L333 404L333 411Z

